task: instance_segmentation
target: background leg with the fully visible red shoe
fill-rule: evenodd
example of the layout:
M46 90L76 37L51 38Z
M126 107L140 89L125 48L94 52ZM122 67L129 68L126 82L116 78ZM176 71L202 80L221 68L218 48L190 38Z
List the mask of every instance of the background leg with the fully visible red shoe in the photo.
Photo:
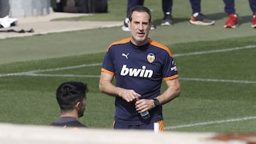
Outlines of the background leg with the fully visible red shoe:
M235 13L235 0L223 0L224 11L228 13L228 21L225 22L224 28L236 28L238 25L238 16Z

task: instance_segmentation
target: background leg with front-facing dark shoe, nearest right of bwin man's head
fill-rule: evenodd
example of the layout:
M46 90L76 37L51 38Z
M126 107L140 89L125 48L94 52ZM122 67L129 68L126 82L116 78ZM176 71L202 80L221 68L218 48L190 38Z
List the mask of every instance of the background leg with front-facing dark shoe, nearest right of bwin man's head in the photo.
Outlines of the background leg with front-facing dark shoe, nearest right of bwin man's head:
M161 21L161 26L170 26L172 24L172 6L173 0L162 0L162 11L164 13L164 18Z

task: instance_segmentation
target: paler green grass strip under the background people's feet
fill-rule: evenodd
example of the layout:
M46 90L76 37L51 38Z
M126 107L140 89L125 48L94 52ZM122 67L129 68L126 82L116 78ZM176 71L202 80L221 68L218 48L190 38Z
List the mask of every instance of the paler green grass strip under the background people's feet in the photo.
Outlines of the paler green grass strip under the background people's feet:
M129 36L129 33L121 29L126 15L127 1L109 0L108 4L108 13L94 13L90 16L59 19L58 21L120 21L120 26L0 40L0 64L105 52L112 41ZM206 16L215 20L214 26L194 26L189 24L188 20L191 16L189 1L179 0L174 1L174 25L166 27L159 26L161 18L163 18L161 1L145 1L145 5L152 10L152 20L156 25L156 31L151 31L149 36L160 43L164 43L164 45L170 46L172 50L176 47L176 44L211 40L230 39L227 42L223 41L223 43L240 45L238 42L234 42L232 38L248 38L248 43L254 43L255 40L252 38L255 36L256 29L250 26L252 12L248 1L235 1L235 4L239 14L238 28L223 28L228 18L223 10L223 1L210 0L202 1L201 9Z

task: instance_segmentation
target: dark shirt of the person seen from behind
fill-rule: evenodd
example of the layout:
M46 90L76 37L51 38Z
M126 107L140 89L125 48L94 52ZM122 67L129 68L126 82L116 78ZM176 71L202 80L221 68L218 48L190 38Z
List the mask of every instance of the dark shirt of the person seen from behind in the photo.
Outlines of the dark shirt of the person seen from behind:
M80 123L75 118L68 117L68 116L58 118L58 120L51 123L50 126L62 126L63 128L70 128L70 127L87 128L87 126Z

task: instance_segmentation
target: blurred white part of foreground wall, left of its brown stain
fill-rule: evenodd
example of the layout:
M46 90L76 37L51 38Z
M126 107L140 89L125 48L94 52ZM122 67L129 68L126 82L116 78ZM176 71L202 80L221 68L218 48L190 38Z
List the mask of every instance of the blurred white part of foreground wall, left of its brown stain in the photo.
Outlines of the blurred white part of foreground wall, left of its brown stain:
M213 135L214 133L68 129L0 123L0 143L3 144L220 144L208 141Z

